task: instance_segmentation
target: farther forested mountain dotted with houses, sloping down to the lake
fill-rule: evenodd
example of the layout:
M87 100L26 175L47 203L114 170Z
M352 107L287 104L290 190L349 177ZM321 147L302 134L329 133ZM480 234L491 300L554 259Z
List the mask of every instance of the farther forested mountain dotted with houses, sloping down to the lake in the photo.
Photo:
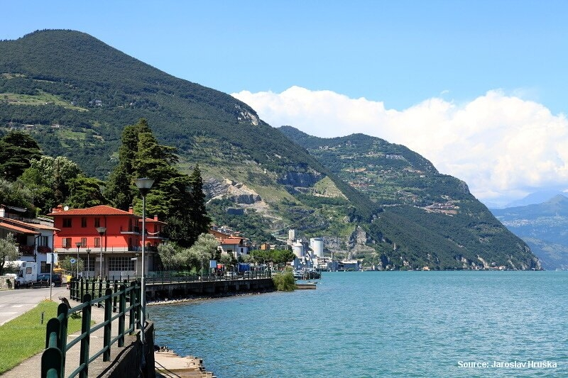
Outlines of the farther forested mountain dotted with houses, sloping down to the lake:
M362 134L317 138L290 126L279 130L381 204L384 211L369 232L386 250L390 247L384 253L389 262L422 259L425 265L436 261L447 269L480 262L484 267L535 267L525 243L503 227L464 182L440 174L405 146Z

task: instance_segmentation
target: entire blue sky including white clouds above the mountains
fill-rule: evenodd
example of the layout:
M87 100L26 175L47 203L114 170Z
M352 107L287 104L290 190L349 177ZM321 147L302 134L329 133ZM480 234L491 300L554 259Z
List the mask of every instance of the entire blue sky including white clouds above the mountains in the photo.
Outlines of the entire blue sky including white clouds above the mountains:
M235 96L271 126L406 145L490 207L568 189L568 1L21 0L1 9L1 40L88 33Z

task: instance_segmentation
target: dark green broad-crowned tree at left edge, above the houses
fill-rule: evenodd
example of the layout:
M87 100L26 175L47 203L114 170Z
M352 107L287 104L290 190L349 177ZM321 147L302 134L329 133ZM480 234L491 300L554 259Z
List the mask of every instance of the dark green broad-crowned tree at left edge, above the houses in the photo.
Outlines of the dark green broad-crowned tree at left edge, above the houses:
M11 131L0 139L0 176L16 181L30 161L40 155L40 147L33 138L21 131Z

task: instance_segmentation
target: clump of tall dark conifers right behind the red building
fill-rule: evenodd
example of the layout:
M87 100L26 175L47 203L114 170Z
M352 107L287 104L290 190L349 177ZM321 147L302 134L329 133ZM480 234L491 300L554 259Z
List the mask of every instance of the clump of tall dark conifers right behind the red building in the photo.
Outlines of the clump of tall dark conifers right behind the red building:
M188 176L175 168L175 148L160 145L145 119L124 128L119 149L119 165L109 177L105 194L119 209L134 207L142 212L141 194L133 180L154 180L146 196L146 213L164 219L165 235L182 248L192 246L209 229L205 196L198 166ZM189 258L189 257L188 257Z

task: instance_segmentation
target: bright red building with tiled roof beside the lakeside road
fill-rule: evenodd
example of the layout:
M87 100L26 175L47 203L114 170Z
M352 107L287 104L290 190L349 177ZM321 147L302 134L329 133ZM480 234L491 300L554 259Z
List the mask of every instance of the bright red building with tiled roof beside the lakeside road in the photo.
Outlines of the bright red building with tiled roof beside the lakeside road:
M142 274L155 268L156 247L166 223L158 217L146 218L145 267L142 268L142 217L129 211L99 205L87 209L53 209L53 226L60 231L54 236L54 249L60 260L79 257L84 262L85 277L99 274L118 279L123 275ZM106 228L102 233L101 228ZM102 268L102 272L101 272Z

